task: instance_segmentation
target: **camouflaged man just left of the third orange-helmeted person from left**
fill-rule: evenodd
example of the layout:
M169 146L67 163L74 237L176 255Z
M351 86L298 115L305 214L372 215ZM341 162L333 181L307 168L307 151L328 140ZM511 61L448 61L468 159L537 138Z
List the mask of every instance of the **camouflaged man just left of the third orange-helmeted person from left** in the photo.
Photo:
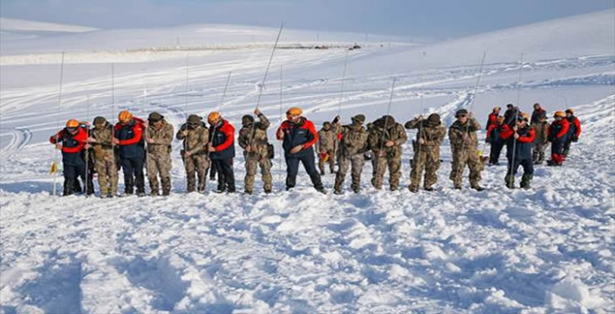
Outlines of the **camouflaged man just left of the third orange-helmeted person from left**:
M205 192L206 170L209 168L207 158L207 143L209 142L209 130L205 123L197 115L189 115L186 123L181 125L175 138L183 140L181 150L181 160L184 161L186 168L186 178L188 182L188 193L194 192L198 178L198 193Z

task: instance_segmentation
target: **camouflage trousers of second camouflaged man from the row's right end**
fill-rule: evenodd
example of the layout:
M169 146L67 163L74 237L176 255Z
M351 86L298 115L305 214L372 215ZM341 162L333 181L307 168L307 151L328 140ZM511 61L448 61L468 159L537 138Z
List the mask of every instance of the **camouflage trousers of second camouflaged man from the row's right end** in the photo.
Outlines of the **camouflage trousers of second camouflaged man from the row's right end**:
M417 190L421 184L421 176L425 171L424 188L431 188L438 181L437 171L440 169L440 150L439 149L419 149L414 153L412 160L412 170L410 170L410 190Z

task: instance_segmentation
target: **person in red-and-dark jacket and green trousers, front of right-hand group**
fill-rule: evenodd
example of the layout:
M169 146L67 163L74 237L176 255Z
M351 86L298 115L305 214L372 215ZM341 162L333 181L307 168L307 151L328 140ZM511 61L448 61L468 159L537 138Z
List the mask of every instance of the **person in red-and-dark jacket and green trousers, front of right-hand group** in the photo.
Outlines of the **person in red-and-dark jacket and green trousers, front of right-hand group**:
M504 181L506 188L514 188L514 175L517 174L519 166L522 166L521 188L530 189L530 182L534 174L532 142L536 133L533 127L528 125L530 115L527 113L520 114L515 120L517 121L516 126L505 125L500 134L500 137L506 141L506 159L508 159L508 170Z

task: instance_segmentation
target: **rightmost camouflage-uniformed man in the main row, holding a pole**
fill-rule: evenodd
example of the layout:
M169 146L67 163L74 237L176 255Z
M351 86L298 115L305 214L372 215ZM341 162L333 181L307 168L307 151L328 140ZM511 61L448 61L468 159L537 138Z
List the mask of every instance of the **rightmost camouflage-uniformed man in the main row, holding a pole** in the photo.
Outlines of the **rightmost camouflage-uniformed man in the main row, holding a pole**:
M479 182L483 163L479 158L479 138L476 134L480 129L479 121L472 117L466 109L457 110L455 118L457 121L448 129L452 151L450 179L452 179L454 188L461 189L463 169L467 164L470 168L471 188L482 191L484 188L479 186Z

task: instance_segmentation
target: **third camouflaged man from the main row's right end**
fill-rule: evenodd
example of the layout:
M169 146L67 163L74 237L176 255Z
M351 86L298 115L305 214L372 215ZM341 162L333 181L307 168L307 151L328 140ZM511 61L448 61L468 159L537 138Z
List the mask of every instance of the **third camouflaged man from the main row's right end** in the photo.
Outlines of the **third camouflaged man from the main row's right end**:
M401 145L408 140L406 129L395 122L395 118L382 116L373 122L373 128L367 140L373 155L378 159L376 176L372 179L373 188L382 189L384 172L388 166L390 188L391 191L396 191L400 186L401 178Z

